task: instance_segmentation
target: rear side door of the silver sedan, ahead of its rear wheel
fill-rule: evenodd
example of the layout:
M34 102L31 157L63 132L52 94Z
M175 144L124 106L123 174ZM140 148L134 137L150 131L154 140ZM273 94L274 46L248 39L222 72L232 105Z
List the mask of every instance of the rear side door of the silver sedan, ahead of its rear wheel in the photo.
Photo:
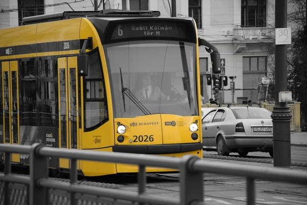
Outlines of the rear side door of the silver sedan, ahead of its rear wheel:
M215 137L217 135L217 132L220 131L222 127L222 123L225 119L226 112L223 109L218 109L215 113L211 123L207 126L207 140L208 140L208 146L216 146ZM224 115L224 116L223 116ZM224 118L223 121L221 120L222 117Z

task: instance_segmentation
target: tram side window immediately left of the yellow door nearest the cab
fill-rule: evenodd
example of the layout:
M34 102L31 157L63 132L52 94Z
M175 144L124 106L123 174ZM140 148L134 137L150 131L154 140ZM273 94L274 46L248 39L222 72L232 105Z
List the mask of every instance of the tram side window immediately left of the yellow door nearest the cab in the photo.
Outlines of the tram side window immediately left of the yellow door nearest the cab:
M40 59L38 66L38 74L39 126L56 127L53 59Z

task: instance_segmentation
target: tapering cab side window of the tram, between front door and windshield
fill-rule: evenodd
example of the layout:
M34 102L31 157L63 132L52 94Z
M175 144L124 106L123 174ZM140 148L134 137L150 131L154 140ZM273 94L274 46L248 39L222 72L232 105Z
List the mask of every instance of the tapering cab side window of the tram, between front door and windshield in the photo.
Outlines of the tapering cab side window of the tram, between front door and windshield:
M84 128L91 131L108 120L105 84L99 53L90 55L89 74L84 79Z

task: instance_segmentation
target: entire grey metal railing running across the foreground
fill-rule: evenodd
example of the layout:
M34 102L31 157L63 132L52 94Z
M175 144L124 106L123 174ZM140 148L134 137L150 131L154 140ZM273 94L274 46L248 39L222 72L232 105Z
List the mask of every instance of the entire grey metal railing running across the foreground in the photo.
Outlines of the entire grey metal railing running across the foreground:
M205 161L193 155L174 158L145 154L69 150L50 148L39 143L33 144L32 146L0 144L0 152L5 153L5 172L4 174L0 174L0 181L4 181L3 195L5 205L9 204L9 183L11 182L24 183L28 187L28 203L31 205L49 204L48 189L68 191L71 199L70 204L77 204L77 193L96 195L111 199L112 201L129 201L130 204L131 202L138 202L139 204L205 204L203 197L203 173L246 177L247 204L249 205L255 204L255 179L277 180L307 185L307 172L301 170L263 168L247 165L238 166L225 162ZM30 155L30 176L18 176L11 173L12 153ZM49 157L71 159L70 182L48 179ZM138 193L77 184L78 159L138 165ZM178 169L180 171L180 198L173 199L146 194L145 168L147 166Z

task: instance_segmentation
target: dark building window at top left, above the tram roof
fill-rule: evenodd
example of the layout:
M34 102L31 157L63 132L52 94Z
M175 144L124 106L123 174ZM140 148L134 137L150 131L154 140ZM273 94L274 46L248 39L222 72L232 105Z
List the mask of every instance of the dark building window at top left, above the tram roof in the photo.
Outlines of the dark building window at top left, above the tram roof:
M23 22L24 17L44 14L43 0L18 0L18 23Z

